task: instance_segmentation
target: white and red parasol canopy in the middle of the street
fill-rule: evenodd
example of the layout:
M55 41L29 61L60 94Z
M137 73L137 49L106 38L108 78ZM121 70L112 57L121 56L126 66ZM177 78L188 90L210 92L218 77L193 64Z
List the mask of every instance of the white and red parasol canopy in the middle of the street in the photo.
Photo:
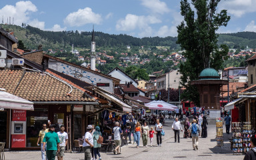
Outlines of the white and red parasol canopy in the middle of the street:
M165 101L151 101L146 103L145 106L149 107L149 109L158 109L165 111L175 111L177 106L166 103Z

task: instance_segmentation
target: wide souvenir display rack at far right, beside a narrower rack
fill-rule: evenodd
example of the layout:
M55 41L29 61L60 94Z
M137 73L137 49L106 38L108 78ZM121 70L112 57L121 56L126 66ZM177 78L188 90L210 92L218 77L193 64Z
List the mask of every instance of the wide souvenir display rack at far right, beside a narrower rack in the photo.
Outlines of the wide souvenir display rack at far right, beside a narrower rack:
M251 122L233 122L232 123L231 149L233 153L247 153L251 147Z

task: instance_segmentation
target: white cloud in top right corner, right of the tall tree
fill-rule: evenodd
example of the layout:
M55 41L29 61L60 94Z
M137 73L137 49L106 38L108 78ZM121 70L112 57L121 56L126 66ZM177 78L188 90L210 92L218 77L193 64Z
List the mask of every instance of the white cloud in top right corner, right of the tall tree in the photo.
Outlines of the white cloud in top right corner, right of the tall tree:
M227 12L235 17L242 17L246 13L256 12L255 0L229 0L221 1L219 9L227 9Z

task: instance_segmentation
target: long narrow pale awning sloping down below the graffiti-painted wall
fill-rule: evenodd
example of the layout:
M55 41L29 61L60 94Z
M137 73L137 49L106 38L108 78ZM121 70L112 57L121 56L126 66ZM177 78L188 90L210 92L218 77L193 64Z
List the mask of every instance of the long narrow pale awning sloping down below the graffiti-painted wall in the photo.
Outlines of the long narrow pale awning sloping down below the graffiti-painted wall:
M123 103L122 101L120 101L119 99L114 97L113 95L110 95L108 93L103 93L103 91L99 91L97 89L95 89L95 92L98 93L99 95L105 97L106 99L109 99L113 103L116 103L117 105L123 107L124 112L131 112L131 108L132 108L131 106L127 105L126 103Z

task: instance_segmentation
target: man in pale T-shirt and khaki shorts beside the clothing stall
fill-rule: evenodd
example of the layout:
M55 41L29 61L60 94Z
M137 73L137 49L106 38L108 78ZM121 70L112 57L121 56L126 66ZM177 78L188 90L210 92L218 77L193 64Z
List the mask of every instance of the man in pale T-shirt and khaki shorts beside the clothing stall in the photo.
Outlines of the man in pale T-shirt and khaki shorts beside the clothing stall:
M119 147L121 146L121 135L123 134L122 129L119 127L119 122L115 122L115 127L113 128L114 134L114 143L115 149L113 149L113 153L121 154L119 151Z

